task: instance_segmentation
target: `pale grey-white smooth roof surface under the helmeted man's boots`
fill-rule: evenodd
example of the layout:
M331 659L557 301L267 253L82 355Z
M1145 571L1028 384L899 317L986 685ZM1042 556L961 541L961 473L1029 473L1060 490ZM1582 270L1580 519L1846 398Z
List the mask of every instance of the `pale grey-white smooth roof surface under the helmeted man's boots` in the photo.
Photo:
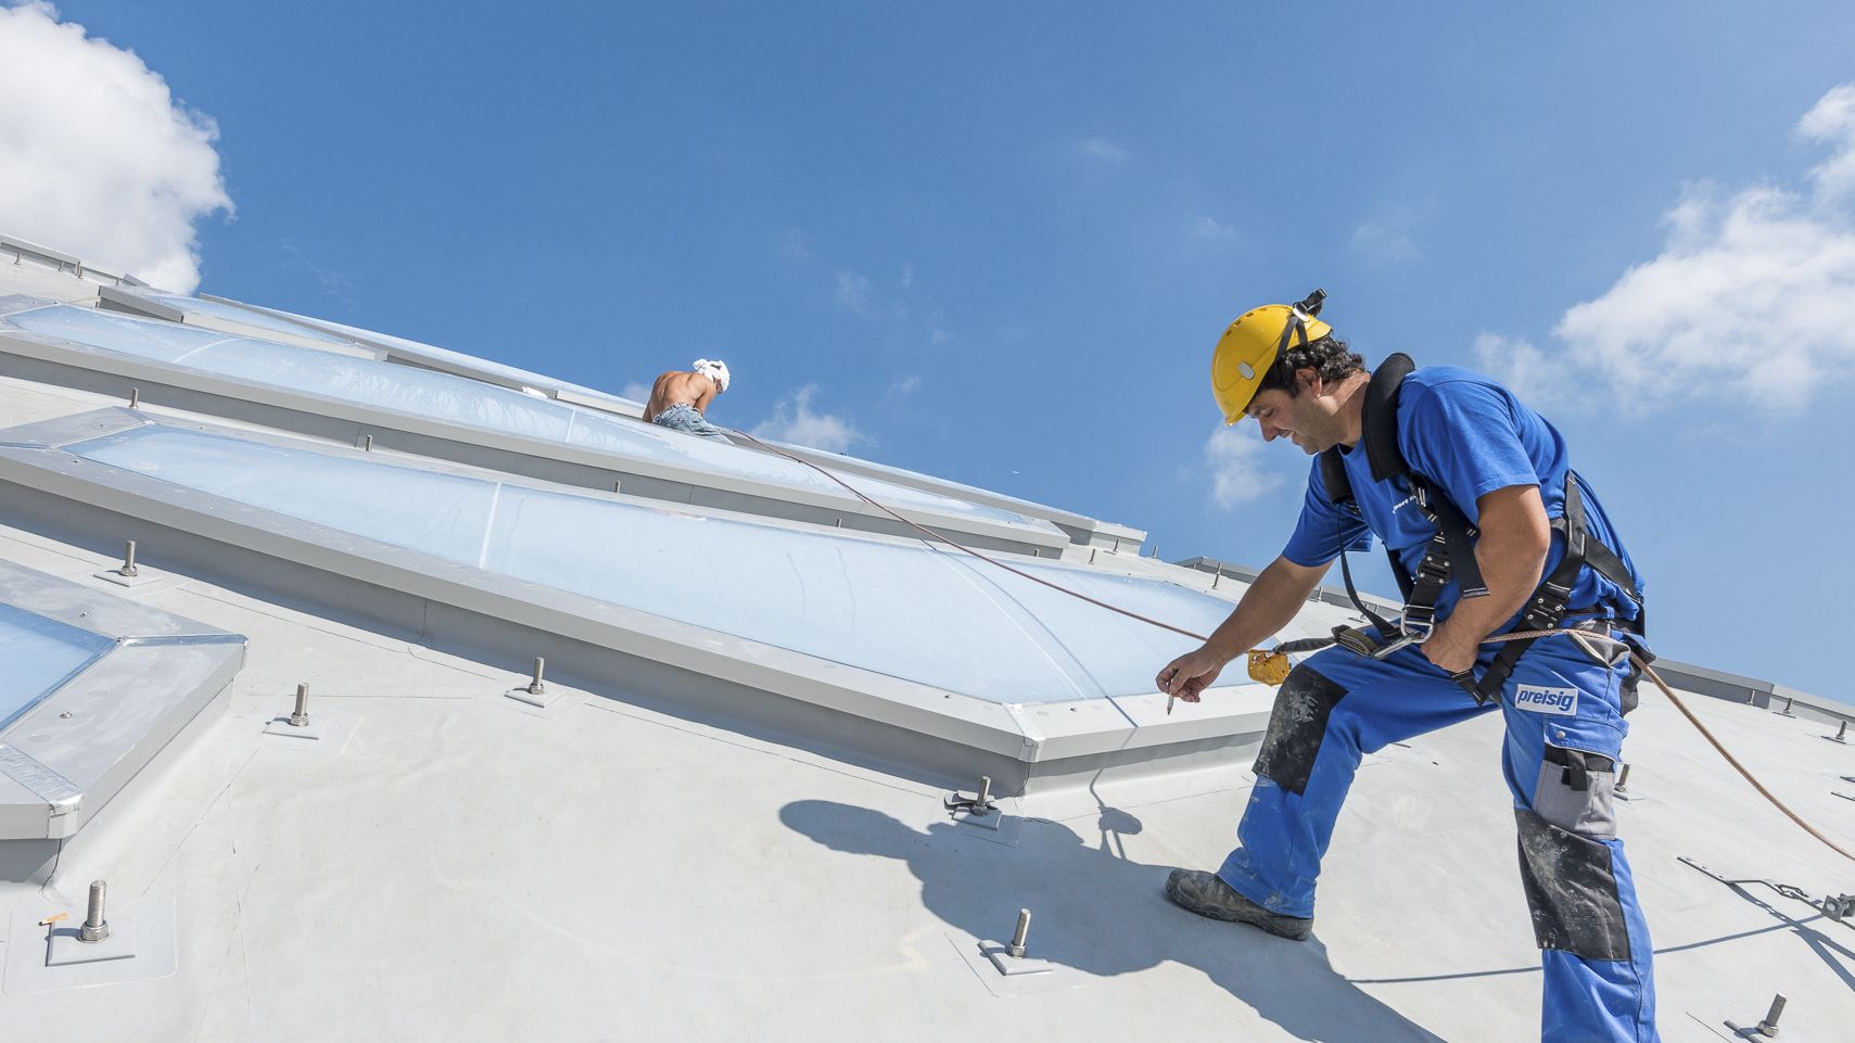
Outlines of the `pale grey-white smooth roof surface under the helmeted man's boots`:
M0 375L0 427L111 405ZM224 698L46 869L0 856L13 872L0 874L7 1043L1538 1036L1493 716L1367 757L1313 941L1287 943L1161 895L1171 867L1215 867L1234 843L1241 744L1007 798L996 831L955 824L944 779L644 696L642 677L551 677L555 702L538 709L508 698L525 663L436 624L328 609L313 586L167 572L158 547L148 583L113 585L96 573L119 564L119 544L76 520L15 516L13 492L0 483L0 559L245 635L249 650ZM1070 547L1065 568L1211 598L1202 572L1089 557ZM1226 577L1215 598L1241 590ZM1308 625L1330 612L1310 605ZM321 740L265 731L299 683ZM1222 694L1267 700L1252 685ZM1690 705L1855 846L1855 742L1825 740L1825 713ZM1213 713L1182 705L1171 722ZM1773 993L1790 997L1781 1039L1849 1039L1855 926L1677 857L1812 896L1855 891L1855 865L1770 809L1647 685L1631 728L1636 798L1619 828L1658 952L1664 1039L1733 1037L1723 1019L1755 1023ZM46 971L58 924L39 921L80 921L91 880L108 880L111 922L139 924L145 948ZM1030 954L1054 969L1004 978L976 943L1009 935L1020 908Z

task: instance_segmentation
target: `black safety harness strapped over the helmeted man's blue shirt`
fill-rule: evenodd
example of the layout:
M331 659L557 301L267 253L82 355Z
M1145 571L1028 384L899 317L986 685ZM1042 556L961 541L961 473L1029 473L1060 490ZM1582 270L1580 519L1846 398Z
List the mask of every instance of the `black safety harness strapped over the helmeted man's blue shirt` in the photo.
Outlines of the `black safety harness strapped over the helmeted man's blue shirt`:
M1341 549L1339 555L1339 572L1347 583L1347 598L1350 598L1352 605L1373 622L1378 633L1375 635L1360 627L1334 627L1334 640L1347 650L1373 659L1384 659L1401 648L1430 640L1430 635L1436 633L1436 601L1441 598L1443 588L1449 586L1451 579L1454 579L1460 586L1462 598L1488 596L1488 585L1482 581L1480 564L1475 560L1475 540L1478 536L1477 527L1469 523L1467 516L1462 514L1462 509L1456 507L1430 479L1414 471L1410 464L1404 462L1404 455L1397 445L1399 392L1404 388L1404 379L1410 377L1415 367L1417 364L1412 362L1408 354L1393 354L1373 371L1371 380L1365 384L1365 406L1360 436L1360 444L1365 449L1365 460L1371 466L1373 481L1382 483L1393 477L1402 477L1415 497L1417 510L1421 510L1423 516L1436 525L1436 536L1432 536L1428 546L1425 546L1415 575L1406 575L1397 551L1389 546L1386 547L1386 557L1391 559L1391 575L1397 577L1399 588L1404 594L1402 616L1397 620L1386 620L1378 612L1373 612L1352 586L1352 570L1347 566L1345 549ZM1347 477L1347 468L1339 457L1337 445L1321 453L1321 483L1326 486L1326 497L1334 501L1336 507L1363 520L1358 499L1352 496L1352 481ZM1553 529L1566 536L1566 557L1560 559L1558 566L1553 568L1553 572L1540 581L1540 586L1532 592L1532 596L1527 598L1519 627L1527 631L1554 631L1560 629L1566 616L1599 611L1597 605L1567 605L1571 599L1571 588L1577 585L1579 572L1588 564L1599 575L1618 585L1618 588L1636 603L1634 620L1612 622L1614 625L1640 637L1644 633L1642 592L1636 590L1636 579L1623 564L1623 559L1606 547L1603 540L1592 536L1586 529L1584 497L1579 492L1579 475L1571 470L1566 471L1564 514L1553 520ZM1384 638L1382 635L1397 637ZM1469 692L1477 703L1486 703L1501 694L1501 687L1506 685L1508 676L1514 674L1514 664L1534 640L1538 638L1504 642L1480 679L1475 677L1473 666L1454 674L1452 679L1465 692ZM1278 651L1282 650L1278 648Z

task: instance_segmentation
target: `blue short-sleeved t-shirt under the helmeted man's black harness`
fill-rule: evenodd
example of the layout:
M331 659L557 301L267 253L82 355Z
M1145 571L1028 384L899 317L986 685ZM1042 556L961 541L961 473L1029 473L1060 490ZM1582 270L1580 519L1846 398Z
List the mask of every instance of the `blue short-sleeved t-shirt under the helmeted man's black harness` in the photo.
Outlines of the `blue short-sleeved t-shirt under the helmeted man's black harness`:
M1480 373L1458 366L1426 366L1406 377L1399 392L1397 442L1404 464L1447 496L1471 525L1480 523L1477 499L1516 484L1540 486L1547 518L1566 514L1566 440L1545 418L1521 405L1514 392ZM1324 566L1343 549L1371 549L1376 533L1397 553L1404 575L1415 575L1436 525L1417 509L1410 483L1402 475L1375 483L1363 442L1352 449L1341 447L1341 460L1360 514L1334 507L1326 497L1321 458L1315 457L1300 522L1282 557L1300 566ZM1629 559L1597 494L1582 477L1579 494L1586 531L1623 559L1636 577L1636 590L1642 590L1642 572ZM1564 557L1566 538L1554 531L1542 575L1551 575ZM1436 601L1438 618L1449 614L1458 596L1458 586L1451 581ZM1590 564L1579 572L1567 605L1605 605L1605 614L1619 620L1636 618L1638 612L1636 603Z

